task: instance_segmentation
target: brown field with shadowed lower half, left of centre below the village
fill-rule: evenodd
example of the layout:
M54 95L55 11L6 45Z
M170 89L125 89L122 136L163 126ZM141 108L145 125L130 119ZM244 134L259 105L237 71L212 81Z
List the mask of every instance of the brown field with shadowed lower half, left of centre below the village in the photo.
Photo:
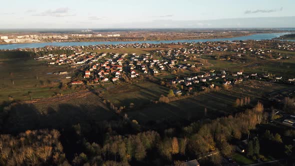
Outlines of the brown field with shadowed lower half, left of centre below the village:
M14 125L15 130L66 127L77 123L99 122L116 119L118 115L89 91L61 97L42 99L37 102L20 102L11 107L11 114L4 128Z

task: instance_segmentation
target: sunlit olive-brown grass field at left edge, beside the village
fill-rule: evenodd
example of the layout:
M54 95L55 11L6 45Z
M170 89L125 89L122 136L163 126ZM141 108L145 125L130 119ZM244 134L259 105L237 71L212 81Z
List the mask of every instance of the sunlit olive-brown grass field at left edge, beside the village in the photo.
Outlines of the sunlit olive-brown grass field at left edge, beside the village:
M60 91L58 85L67 75L54 75L53 72L68 71L67 66L49 66L46 61L32 58L0 58L0 103L13 96L16 100L46 98ZM72 73L68 75L71 76Z

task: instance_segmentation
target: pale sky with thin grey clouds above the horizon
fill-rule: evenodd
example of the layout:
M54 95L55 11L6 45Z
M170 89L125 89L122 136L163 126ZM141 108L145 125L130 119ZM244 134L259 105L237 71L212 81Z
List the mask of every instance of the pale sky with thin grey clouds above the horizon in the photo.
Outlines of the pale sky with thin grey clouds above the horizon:
M295 0L0 0L0 28L295 27Z

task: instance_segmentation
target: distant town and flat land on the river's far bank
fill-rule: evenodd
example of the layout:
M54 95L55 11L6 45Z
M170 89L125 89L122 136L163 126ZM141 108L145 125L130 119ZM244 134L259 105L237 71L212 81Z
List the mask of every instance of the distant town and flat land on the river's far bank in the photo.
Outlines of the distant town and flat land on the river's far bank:
M130 40L172 40L172 39L202 39L202 38L222 38L236 37L255 33L281 32L277 29L225 29L205 30L205 29L171 29L159 30L80 30L61 32L0 32L0 43L26 43L26 42L70 42L70 41L130 41Z

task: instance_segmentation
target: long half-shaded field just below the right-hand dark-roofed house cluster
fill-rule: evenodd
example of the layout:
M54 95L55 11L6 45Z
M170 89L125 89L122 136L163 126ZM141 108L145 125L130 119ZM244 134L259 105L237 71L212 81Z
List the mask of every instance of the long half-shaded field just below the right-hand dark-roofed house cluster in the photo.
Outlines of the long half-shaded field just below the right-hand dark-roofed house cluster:
M286 85L271 84L259 81L245 81L235 85L230 91L210 92L194 97L188 97L169 103L150 104L141 109L127 111L128 117L139 123L156 120L197 120L204 117L217 117L237 111L233 107L236 98L250 97L251 103L256 104L264 94L274 90L288 88ZM204 109L207 109L206 116Z

